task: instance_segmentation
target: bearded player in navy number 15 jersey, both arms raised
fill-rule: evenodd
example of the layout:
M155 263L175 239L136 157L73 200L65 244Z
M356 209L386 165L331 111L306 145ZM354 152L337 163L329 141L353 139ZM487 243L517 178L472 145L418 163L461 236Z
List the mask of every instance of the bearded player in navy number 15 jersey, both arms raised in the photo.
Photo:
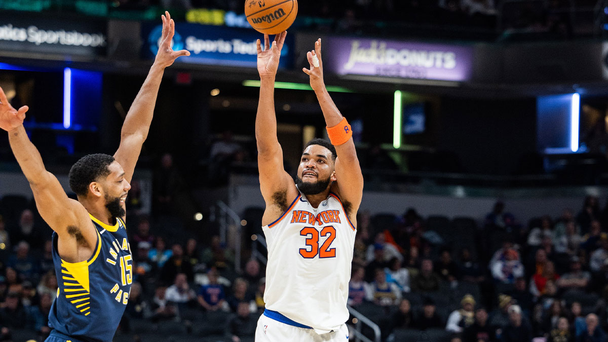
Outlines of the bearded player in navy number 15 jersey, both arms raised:
M188 51L173 51L173 19L162 16L161 46L122 127L114 156L84 156L72 166L67 197L27 138L29 108L15 110L0 88L0 128L32 187L36 207L54 230L53 260L59 285L49 314L46 341L112 341L133 281L133 259L125 228L125 199L145 141L164 69Z

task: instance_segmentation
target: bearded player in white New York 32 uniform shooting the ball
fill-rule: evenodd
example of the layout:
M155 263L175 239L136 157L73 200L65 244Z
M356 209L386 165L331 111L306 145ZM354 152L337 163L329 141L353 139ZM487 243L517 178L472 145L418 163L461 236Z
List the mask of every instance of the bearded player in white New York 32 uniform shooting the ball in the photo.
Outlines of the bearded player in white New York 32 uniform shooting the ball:
M306 144L295 182L283 169L277 140L274 82L287 32L272 46L257 41L260 102L255 120L262 224L268 242L266 310L257 342L347 341L347 298L361 204L363 176L352 132L323 82L321 41L308 52L310 85L317 95L331 143Z

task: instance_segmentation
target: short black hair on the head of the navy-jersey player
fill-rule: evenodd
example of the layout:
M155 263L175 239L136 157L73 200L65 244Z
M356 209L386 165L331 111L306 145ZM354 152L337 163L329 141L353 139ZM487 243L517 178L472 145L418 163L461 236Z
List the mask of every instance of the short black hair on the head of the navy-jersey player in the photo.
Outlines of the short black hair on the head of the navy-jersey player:
M108 166L114 162L114 157L103 153L86 155L80 158L70 169L68 176L70 187L76 195L86 196L89 184L100 177L110 174Z

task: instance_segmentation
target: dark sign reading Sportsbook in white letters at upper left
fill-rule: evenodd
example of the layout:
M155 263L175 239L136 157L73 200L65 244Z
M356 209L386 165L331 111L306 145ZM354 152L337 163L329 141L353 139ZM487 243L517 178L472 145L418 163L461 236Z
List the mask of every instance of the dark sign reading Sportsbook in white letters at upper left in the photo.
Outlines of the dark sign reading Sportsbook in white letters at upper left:
M102 55L106 23L0 16L0 48L62 55Z

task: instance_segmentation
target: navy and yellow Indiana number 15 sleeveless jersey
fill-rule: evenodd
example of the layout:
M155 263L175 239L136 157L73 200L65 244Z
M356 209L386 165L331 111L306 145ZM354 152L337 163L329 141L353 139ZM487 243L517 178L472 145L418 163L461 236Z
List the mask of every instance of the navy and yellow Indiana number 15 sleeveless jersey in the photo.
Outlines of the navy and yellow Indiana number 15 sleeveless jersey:
M91 220L97 230L97 245L91 259L69 263L57 252L53 233L53 261L57 274L57 299L49 313L49 326L81 341L112 341L133 281L131 248L125 223L106 225Z

